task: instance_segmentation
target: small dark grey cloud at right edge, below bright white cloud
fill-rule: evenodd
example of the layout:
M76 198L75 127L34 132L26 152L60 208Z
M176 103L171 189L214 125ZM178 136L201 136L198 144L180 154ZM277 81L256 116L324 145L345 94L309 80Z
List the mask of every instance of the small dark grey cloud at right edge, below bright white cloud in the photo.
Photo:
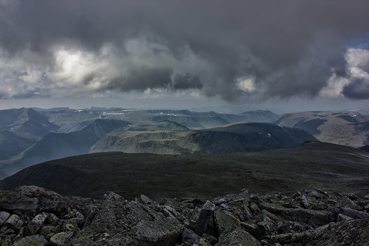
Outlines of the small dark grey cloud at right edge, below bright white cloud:
M344 86L342 94L350 99L369 99L369 81L356 77Z

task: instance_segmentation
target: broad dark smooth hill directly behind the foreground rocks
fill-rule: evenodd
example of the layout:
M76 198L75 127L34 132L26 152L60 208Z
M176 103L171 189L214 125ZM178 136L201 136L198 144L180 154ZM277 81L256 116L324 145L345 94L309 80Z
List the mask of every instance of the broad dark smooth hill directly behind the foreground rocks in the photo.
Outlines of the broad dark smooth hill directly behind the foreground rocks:
M101 197L107 190L134 199L217 197L255 192L293 194L315 186L368 192L369 155L348 146L307 142L289 149L225 155L104 152L52 160L0 181L1 189L36 185L62 195Z

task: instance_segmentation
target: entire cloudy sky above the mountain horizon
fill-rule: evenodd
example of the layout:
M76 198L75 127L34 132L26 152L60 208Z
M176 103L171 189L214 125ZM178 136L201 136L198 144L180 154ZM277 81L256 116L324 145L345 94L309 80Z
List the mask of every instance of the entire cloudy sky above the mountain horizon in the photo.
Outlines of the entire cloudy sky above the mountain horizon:
M0 109L369 108L369 1L0 0Z

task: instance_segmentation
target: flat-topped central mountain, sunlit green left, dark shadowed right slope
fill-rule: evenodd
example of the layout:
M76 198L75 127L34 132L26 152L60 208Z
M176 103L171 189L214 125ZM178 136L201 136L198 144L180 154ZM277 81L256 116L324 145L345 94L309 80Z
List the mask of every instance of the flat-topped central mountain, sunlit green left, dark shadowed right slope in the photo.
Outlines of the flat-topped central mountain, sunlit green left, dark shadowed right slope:
M161 124L163 124L162 122ZM165 122L177 124L175 122ZM301 129L272 123L238 122L194 131L136 131L158 129L157 123L146 128L132 127L110 132L91 148L90 153L123 151L170 155L211 155L291 148L304 141L318 141ZM150 126L151 127L148 127ZM132 131L132 129L134 131Z

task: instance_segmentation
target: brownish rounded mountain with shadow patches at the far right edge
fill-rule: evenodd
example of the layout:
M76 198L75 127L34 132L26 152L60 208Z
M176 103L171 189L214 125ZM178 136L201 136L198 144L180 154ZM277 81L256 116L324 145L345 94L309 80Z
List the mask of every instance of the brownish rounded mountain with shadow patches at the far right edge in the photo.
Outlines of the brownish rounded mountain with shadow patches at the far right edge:
M324 142L355 147L369 143L369 120L357 112L290 113L282 115L273 123L304 129Z

